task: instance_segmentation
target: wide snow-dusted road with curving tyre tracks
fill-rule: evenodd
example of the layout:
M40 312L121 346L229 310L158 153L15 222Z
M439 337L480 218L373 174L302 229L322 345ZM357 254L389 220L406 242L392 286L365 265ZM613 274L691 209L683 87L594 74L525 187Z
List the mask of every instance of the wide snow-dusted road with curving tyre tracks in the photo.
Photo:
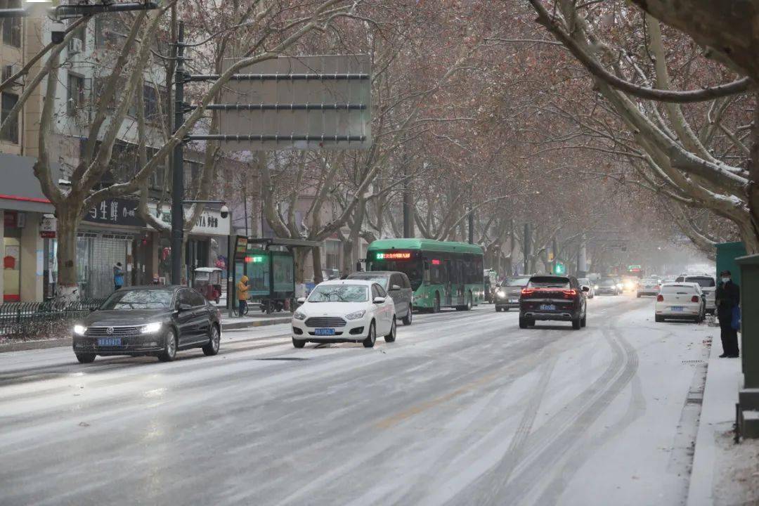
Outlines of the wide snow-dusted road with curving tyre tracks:
M0 504L680 504L716 332L652 304L419 315L373 350L274 325L174 363L0 354Z

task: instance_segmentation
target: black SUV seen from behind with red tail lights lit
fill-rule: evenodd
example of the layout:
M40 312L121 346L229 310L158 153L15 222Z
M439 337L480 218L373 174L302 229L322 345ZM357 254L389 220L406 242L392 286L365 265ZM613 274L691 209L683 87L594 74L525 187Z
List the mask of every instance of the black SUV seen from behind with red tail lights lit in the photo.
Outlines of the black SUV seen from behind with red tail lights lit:
M584 327L587 290L574 276L532 276L519 298L519 328L535 325L536 320L572 322L575 330Z

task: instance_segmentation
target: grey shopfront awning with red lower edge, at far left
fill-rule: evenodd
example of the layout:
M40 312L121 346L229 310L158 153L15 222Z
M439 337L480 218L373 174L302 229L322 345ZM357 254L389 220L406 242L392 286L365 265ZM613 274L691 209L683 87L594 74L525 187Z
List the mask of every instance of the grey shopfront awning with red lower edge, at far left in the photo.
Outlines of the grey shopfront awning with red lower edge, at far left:
M34 175L35 162L36 159L31 156L0 153L0 209L48 213L54 211ZM61 166L53 163L51 170L52 180L58 181Z

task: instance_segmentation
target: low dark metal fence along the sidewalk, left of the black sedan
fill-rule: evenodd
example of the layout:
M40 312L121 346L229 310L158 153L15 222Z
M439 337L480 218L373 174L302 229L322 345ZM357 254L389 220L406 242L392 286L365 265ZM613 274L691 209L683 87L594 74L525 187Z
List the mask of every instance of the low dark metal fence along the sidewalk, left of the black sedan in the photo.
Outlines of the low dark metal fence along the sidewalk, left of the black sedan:
M71 335L74 321L96 310L105 299L76 302L11 302L0 304L0 339L55 338Z

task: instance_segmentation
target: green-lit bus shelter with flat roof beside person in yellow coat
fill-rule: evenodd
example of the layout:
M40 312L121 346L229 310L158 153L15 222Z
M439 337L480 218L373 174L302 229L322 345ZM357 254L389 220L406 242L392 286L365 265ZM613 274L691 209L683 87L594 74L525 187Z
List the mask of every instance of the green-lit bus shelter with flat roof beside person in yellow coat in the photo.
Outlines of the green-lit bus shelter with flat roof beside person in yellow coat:
M292 310L295 300L295 248L320 247L313 240L279 237L231 236L234 249L229 258L234 268L227 278L227 309L229 315L237 302L237 284L244 275L248 278L250 300L258 303L265 313Z

